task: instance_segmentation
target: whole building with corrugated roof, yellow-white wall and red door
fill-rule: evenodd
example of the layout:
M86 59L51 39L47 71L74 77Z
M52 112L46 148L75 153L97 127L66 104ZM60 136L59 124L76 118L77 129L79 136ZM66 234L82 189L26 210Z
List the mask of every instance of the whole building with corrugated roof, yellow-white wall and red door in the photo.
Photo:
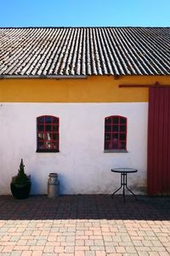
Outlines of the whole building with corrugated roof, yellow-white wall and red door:
M169 27L0 28L0 194L21 158L31 194L168 194L169 75Z

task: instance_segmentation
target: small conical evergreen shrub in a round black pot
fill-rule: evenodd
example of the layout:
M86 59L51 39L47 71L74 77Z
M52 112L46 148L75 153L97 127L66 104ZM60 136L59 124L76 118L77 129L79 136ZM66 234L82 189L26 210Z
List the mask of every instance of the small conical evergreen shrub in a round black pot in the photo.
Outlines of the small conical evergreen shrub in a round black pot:
M24 168L25 166L21 159L19 172L16 176L12 177L10 183L11 192L17 199L27 198L31 190L31 177L26 175Z

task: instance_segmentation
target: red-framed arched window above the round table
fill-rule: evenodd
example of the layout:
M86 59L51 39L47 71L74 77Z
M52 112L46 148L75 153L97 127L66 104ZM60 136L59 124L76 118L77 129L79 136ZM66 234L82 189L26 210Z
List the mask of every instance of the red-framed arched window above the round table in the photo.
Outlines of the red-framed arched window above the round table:
M127 118L105 118L105 152L127 152Z

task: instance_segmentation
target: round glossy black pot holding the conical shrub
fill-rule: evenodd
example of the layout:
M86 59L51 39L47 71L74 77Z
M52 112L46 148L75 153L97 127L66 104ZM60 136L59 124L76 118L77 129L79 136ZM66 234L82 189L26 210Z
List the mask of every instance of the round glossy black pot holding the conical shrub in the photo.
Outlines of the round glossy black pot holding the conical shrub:
M30 195L31 181L28 181L26 184L23 184L23 185L15 184L12 181L10 183L10 189L11 189L12 195L16 199L26 199Z

